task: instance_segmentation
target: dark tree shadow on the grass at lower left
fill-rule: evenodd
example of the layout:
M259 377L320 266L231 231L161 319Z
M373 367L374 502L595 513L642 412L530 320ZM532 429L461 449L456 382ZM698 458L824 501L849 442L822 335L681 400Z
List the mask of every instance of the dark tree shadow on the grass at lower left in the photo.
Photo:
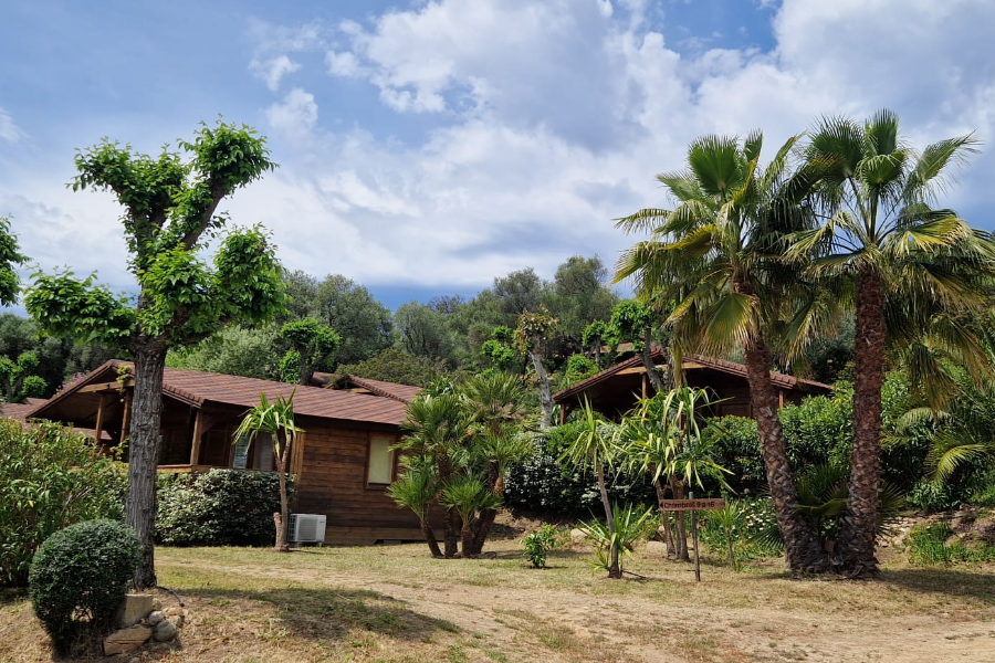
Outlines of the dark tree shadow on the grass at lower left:
M336 641L353 638L355 633L350 632L360 630L397 640L422 641L437 631L459 631L451 622L421 614L411 610L405 601L369 590L298 587L258 591L197 589L188 590L186 597L207 606L238 606L237 610L251 611L247 601L271 606L275 615L255 615L264 618L266 625L260 633L264 639L293 636ZM277 621L273 621L272 617L276 617Z

